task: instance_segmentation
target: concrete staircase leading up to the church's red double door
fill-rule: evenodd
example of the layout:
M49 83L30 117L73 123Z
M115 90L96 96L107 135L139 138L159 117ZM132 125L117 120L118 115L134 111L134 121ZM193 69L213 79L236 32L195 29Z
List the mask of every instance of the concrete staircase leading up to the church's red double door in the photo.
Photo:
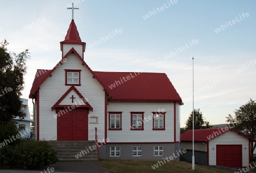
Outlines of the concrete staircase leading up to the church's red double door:
M96 145L95 141L48 141L48 143L57 152L59 161L88 161L98 159L97 149L93 150L93 146Z

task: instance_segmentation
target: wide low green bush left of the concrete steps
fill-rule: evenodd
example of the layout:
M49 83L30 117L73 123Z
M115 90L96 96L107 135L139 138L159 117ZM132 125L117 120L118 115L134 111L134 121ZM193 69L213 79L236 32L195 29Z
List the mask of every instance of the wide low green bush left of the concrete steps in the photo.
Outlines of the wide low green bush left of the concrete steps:
M22 141L0 149L0 168L36 169L57 162L56 151L47 141Z

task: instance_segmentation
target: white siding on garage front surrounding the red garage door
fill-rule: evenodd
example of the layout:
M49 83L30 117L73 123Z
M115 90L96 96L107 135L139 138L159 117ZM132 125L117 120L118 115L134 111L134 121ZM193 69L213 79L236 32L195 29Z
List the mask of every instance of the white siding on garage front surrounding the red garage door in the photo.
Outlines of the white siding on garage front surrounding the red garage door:
M216 145L242 145L242 166L249 166L249 140L236 132L228 131L209 141L209 165L216 165Z

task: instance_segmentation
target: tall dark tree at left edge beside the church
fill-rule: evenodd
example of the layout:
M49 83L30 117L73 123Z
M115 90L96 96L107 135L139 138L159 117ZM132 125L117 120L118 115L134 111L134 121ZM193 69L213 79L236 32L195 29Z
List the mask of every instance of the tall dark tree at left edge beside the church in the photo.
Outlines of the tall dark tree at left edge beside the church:
M20 96L26 74L26 61L30 56L28 49L19 54L7 52L7 41L0 44L0 123L13 117L22 117Z

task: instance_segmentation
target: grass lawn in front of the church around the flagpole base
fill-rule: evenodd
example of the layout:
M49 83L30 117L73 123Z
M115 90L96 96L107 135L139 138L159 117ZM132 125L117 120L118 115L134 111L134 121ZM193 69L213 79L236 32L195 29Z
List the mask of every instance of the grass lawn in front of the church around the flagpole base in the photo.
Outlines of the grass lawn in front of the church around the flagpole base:
M170 161L166 164L162 164L160 167L155 168L151 167L156 164L158 161L127 161L127 160L114 160L114 159L100 159L100 162L105 166L105 168L110 172L229 172L217 170L207 166L195 165L195 171L191 169L192 164L188 162L178 162Z

